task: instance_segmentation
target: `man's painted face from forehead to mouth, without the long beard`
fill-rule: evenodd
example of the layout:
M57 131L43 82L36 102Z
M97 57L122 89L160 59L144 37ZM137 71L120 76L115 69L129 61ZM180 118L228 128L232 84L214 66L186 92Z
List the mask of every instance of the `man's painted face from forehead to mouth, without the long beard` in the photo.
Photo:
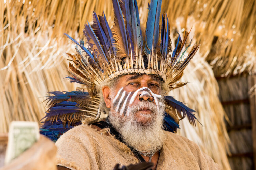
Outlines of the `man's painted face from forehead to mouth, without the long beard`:
M159 79L152 75L122 76L111 94L111 112L121 117L134 112L138 123L147 124L162 105L161 92Z

